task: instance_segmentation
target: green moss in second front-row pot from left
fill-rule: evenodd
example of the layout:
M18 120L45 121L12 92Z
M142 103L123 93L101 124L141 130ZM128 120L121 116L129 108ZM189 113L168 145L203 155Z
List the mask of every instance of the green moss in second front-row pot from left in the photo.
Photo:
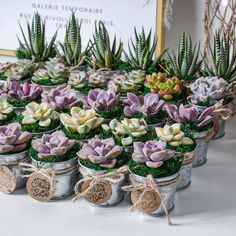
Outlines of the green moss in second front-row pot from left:
M31 158L33 158L36 161L40 161L40 162L44 162L44 163L55 163L55 162L63 162L63 161L68 161L71 160L73 158L75 158L76 152L78 152L80 149L79 144L76 143L65 155L63 156L52 156L48 159L42 160L40 157L38 157L38 153L33 149L30 148L29 150L29 155Z

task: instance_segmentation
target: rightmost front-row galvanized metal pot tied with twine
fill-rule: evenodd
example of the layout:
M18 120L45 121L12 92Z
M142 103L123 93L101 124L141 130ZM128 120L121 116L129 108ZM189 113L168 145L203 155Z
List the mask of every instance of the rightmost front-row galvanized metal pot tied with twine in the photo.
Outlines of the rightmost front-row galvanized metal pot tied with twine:
M146 181L146 177L142 177L130 172L131 182L132 180L138 183L143 183ZM156 178L154 179L157 185L159 186L159 191L166 202L167 210L171 211L174 208L176 186L179 178L179 173L174 175ZM159 208L151 213L145 213L151 216L160 216L165 214L163 203L161 202Z

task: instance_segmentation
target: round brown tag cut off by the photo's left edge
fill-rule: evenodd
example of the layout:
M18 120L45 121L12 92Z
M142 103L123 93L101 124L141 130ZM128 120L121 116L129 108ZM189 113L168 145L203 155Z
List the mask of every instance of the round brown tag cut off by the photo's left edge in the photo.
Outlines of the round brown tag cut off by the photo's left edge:
M6 166L0 166L0 192L12 193L16 188L16 177Z

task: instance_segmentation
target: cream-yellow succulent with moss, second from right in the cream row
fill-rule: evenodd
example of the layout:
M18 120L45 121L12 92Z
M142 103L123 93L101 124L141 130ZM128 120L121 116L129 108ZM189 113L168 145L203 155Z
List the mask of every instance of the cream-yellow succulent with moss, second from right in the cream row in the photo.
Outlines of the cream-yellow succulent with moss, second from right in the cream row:
M113 119L109 124L103 124L102 128L105 131L100 134L102 138L113 137L116 144L124 146L126 151L133 150L133 142L146 141L154 137L152 132L148 132L143 119Z

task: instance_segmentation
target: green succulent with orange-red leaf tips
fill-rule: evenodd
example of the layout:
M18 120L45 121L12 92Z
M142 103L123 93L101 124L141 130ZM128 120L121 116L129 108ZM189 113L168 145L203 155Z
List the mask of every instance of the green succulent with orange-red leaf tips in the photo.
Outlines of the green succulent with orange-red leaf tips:
M171 100L182 94L184 81L176 76L168 78L164 73L153 73L147 76L145 86L149 88L152 93L158 93L160 97Z

